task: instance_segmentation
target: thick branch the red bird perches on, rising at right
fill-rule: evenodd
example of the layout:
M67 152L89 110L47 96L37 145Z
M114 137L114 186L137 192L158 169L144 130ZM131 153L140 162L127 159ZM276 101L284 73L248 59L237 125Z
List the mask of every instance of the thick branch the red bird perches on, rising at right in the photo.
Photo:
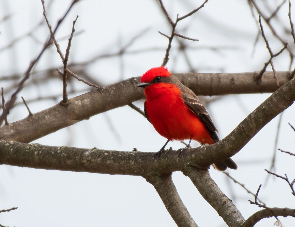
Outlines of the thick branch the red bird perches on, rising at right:
M223 161L237 153L262 127L288 108L294 100L295 78L267 98L223 140L213 145L188 149L179 157L173 150L165 150L158 159L154 157L155 153L138 151L106 151L97 148L53 147L2 141L0 164L139 176L147 176L152 172L169 174L181 171L187 163L207 168L212 163Z

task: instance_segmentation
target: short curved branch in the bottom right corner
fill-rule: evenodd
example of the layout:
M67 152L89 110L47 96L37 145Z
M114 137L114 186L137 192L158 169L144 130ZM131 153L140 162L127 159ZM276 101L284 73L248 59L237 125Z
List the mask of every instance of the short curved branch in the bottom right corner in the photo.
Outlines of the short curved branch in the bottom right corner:
M292 216L295 218L295 209L270 207L269 209L262 209L251 215L241 227L253 227L258 221L263 218L277 217L277 216Z

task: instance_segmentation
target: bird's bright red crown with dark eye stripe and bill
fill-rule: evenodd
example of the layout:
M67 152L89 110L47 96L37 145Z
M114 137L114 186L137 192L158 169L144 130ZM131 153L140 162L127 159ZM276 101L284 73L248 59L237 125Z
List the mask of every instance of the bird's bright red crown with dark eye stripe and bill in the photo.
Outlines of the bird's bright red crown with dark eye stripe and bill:
M141 83L137 87L147 87L162 82L163 77L169 77L171 73L164 66L149 69L141 77Z

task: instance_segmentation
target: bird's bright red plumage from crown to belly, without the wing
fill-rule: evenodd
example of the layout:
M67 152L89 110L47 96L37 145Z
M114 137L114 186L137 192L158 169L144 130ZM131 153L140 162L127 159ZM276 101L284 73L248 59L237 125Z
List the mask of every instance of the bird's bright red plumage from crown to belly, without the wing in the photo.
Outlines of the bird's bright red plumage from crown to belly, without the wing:
M162 77L163 82L154 81L157 76ZM181 91L179 81L171 79L176 77L172 77L164 67L150 69L141 78L142 82L151 83L145 87L145 111L150 122L168 140L192 138L201 143L213 144L214 140L206 125L185 104L183 96L186 94Z

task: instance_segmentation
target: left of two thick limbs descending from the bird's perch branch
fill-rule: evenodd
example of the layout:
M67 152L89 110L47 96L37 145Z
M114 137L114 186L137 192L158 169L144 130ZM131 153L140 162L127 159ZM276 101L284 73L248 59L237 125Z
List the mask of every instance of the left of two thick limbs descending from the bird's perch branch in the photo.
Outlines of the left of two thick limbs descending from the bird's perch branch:
M179 197L171 174L150 174L145 176L145 179L153 184L177 226L198 227Z

